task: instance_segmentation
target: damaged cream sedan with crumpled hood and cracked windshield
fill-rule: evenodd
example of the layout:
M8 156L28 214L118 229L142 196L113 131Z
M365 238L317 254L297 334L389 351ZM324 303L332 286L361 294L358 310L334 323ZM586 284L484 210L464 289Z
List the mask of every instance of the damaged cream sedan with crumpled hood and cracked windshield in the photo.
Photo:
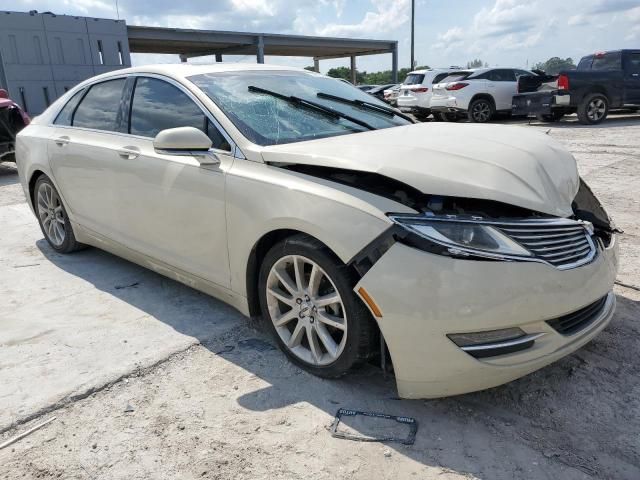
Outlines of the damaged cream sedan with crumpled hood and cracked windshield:
M343 82L165 65L81 83L19 135L51 247L92 245L262 316L322 377L493 387L610 321L615 228L548 135L413 124Z

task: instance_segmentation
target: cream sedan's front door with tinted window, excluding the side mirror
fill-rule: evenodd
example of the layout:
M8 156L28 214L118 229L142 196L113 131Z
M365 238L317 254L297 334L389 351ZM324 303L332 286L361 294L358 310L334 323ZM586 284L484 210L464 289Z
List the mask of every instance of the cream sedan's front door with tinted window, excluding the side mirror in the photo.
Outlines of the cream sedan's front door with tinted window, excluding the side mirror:
M168 265L229 287L225 175L232 141L186 88L167 77L136 76L127 134L118 148L116 206L122 241ZM153 148L164 129L195 127L212 141L218 165Z

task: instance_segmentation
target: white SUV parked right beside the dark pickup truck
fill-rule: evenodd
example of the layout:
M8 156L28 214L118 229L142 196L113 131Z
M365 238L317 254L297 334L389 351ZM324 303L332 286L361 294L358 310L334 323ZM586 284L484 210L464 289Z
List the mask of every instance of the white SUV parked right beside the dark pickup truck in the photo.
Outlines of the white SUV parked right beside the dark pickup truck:
M535 75L518 68L461 70L433 86L431 109L445 120L467 117L474 123L490 121L496 113L511 114L518 77Z

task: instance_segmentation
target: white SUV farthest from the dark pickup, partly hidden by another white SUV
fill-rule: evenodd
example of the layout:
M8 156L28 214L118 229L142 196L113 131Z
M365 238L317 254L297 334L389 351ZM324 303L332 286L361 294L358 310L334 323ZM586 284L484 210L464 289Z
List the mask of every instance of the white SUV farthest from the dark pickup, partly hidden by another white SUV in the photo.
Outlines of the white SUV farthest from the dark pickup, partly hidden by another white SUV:
M420 120L431 115L433 84L440 82L453 69L429 69L409 72L398 92L398 108L413 113Z

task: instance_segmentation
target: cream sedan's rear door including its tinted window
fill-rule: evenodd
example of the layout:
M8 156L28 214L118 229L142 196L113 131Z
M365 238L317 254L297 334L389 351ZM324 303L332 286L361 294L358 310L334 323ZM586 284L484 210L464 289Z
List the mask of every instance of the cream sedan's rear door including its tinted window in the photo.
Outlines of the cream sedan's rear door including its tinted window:
M73 96L54 121L53 176L75 221L105 236L121 228L114 162L121 137L124 77Z

